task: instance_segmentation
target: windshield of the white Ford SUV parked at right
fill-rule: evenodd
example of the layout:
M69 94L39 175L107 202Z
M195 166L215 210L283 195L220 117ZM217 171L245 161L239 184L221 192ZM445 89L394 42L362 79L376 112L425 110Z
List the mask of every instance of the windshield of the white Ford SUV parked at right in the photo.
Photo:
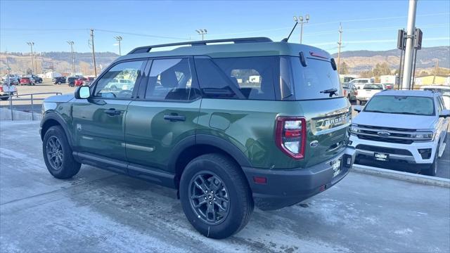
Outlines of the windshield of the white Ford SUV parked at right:
M432 98L418 96L374 96L364 112L381 112L406 115L435 115Z

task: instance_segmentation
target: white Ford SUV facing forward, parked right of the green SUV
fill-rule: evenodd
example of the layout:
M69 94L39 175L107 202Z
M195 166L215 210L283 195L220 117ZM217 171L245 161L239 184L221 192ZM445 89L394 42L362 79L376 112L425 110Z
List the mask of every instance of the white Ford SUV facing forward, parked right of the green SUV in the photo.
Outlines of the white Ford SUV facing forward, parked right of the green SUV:
M435 176L450 116L440 93L383 91L364 109L356 105L354 110L360 113L350 128L350 145L356 148L357 160L406 163Z

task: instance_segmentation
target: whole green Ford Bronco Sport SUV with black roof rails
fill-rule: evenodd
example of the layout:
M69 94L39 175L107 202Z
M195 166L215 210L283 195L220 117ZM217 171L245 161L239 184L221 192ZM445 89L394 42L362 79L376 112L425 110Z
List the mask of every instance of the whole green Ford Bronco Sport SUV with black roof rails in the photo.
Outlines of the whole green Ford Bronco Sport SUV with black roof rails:
M117 80L127 81L112 89ZM280 209L330 188L354 161L334 59L267 38L135 48L75 96L44 100L43 114L53 176L89 164L175 188L210 238L240 231L255 205Z

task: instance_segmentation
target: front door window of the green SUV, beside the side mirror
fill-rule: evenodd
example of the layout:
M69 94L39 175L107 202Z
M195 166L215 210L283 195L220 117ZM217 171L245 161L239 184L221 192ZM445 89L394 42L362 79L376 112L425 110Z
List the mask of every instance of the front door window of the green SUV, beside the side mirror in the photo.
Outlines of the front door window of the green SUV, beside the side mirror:
M134 85L141 76L143 60L119 63L98 79L94 96L102 98L131 98Z

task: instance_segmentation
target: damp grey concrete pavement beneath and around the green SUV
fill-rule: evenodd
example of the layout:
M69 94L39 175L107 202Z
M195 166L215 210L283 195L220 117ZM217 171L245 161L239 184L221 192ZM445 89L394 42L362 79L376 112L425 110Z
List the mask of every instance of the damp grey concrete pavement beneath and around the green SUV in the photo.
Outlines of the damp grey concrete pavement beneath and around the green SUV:
M83 166L50 176L37 122L0 122L0 252L449 252L450 189L352 173L226 240L198 234L176 192Z

